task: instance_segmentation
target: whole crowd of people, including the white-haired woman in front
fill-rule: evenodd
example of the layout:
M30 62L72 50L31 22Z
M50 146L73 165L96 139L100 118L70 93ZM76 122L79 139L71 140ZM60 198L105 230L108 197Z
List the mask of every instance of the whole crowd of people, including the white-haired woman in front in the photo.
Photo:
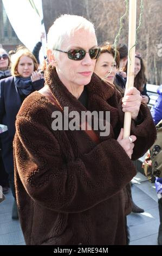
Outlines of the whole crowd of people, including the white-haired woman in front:
M132 160L156 137L141 54L135 53L134 85L125 91L127 46L98 46L85 18L62 15L50 27L44 77L40 47L33 53L18 47L12 62L0 49L0 124L8 126L1 134L0 183L15 199L12 218L19 218L27 245L128 245L126 216L144 212L132 199ZM109 135L101 136L93 121L90 131L88 122L85 129L54 130L54 113L72 122L67 107L80 127L82 112L103 112ZM132 117L128 138L125 112ZM161 205L159 198L160 216ZM160 217L159 245L161 225Z

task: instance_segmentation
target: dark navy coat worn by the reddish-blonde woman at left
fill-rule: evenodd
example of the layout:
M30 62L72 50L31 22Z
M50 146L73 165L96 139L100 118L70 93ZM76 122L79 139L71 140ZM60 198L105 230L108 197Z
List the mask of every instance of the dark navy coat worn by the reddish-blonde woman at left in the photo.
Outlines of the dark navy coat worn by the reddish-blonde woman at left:
M34 82L34 88L40 90L44 86L44 79ZM12 142L15 135L16 115L22 105L22 99L16 89L14 77L0 81L0 124L7 125L8 131L1 134L2 158L5 168L9 172L14 170Z

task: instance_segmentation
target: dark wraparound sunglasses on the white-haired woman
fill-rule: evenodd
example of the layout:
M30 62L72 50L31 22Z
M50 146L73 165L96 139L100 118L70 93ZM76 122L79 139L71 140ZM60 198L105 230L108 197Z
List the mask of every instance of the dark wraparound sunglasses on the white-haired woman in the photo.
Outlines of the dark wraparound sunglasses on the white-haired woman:
M86 56L86 50L83 49L73 49L73 50L69 50L68 52L66 51L61 51L58 49L54 49L55 51L59 51L59 52L64 52L68 54L68 58L69 59L73 59L73 60L82 60L83 58L85 58ZM100 52L101 49L100 48L94 48L94 49L90 49L88 51L89 56L91 59L97 59L100 56Z

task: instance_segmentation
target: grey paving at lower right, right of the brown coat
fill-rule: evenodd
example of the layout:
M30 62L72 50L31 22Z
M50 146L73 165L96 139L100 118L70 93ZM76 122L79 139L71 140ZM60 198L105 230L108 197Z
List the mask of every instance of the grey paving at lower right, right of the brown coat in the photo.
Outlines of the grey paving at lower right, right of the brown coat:
M128 216L130 245L158 245L159 211L155 186L141 173L135 176L133 182L133 200L145 212Z

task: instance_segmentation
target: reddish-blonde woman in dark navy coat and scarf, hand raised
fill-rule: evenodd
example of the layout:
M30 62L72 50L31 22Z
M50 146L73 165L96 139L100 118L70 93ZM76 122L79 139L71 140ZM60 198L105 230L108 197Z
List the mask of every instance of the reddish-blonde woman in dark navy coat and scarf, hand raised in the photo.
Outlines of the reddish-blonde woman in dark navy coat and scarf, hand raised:
M12 208L12 218L18 218L16 194L14 185L14 160L12 142L15 136L16 115L23 100L35 90L44 86L42 74L37 70L37 61L27 49L21 48L13 58L12 76L0 81L0 123L8 126L8 131L1 134L2 159L5 170L9 174L9 184L15 202Z

